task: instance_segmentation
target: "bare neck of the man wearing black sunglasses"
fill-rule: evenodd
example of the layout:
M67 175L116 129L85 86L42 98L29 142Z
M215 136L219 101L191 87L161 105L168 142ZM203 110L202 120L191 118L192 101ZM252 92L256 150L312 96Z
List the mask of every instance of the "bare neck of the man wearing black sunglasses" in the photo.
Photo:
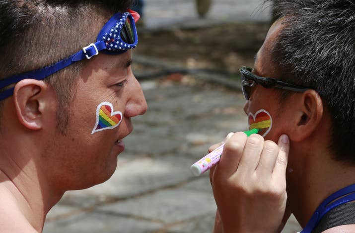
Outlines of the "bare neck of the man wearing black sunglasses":
M312 152L303 156L298 167L294 168L298 171L287 174L289 205L302 227L325 198L345 186L355 184L354 166L333 160L326 151L309 151Z

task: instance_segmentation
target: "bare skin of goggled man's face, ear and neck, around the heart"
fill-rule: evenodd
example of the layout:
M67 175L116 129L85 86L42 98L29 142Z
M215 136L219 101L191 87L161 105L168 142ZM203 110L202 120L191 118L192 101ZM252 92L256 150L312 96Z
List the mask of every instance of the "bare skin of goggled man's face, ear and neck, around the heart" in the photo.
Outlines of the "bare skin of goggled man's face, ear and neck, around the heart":
M92 28L96 36L102 25ZM1 232L42 232L46 214L64 192L108 180L132 130L131 118L147 105L131 70L131 51L91 58L78 77L65 135L56 130L58 98L43 81L17 83L1 118ZM91 134L96 108L111 102L118 127ZM13 224L16 222L16 224Z

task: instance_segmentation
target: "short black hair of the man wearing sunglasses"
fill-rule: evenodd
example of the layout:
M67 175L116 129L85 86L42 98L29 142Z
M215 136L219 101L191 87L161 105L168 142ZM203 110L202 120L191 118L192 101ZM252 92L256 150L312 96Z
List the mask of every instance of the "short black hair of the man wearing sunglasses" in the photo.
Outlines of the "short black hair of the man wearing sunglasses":
M281 79L319 93L335 159L355 164L355 1L274 0L274 12L285 24L272 50Z

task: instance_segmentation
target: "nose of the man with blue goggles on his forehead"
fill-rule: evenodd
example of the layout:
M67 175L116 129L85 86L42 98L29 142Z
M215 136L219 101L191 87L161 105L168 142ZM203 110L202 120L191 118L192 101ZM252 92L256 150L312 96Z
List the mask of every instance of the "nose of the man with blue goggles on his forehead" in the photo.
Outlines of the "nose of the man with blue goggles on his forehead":
M135 88L130 90L130 98L126 104L125 117L135 117L143 115L147 110L146 100L142 91L142 87L135 78Z

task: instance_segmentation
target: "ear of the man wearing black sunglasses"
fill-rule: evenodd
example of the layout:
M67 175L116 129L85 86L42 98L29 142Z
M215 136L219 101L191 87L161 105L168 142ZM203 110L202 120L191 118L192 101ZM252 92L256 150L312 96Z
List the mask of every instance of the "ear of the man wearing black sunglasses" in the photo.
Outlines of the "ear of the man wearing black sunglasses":
M298 95L293 104L294 124L290 139L302 141L319 127L323 117L323 101L316 91L307 90L302 93L301 97Z

